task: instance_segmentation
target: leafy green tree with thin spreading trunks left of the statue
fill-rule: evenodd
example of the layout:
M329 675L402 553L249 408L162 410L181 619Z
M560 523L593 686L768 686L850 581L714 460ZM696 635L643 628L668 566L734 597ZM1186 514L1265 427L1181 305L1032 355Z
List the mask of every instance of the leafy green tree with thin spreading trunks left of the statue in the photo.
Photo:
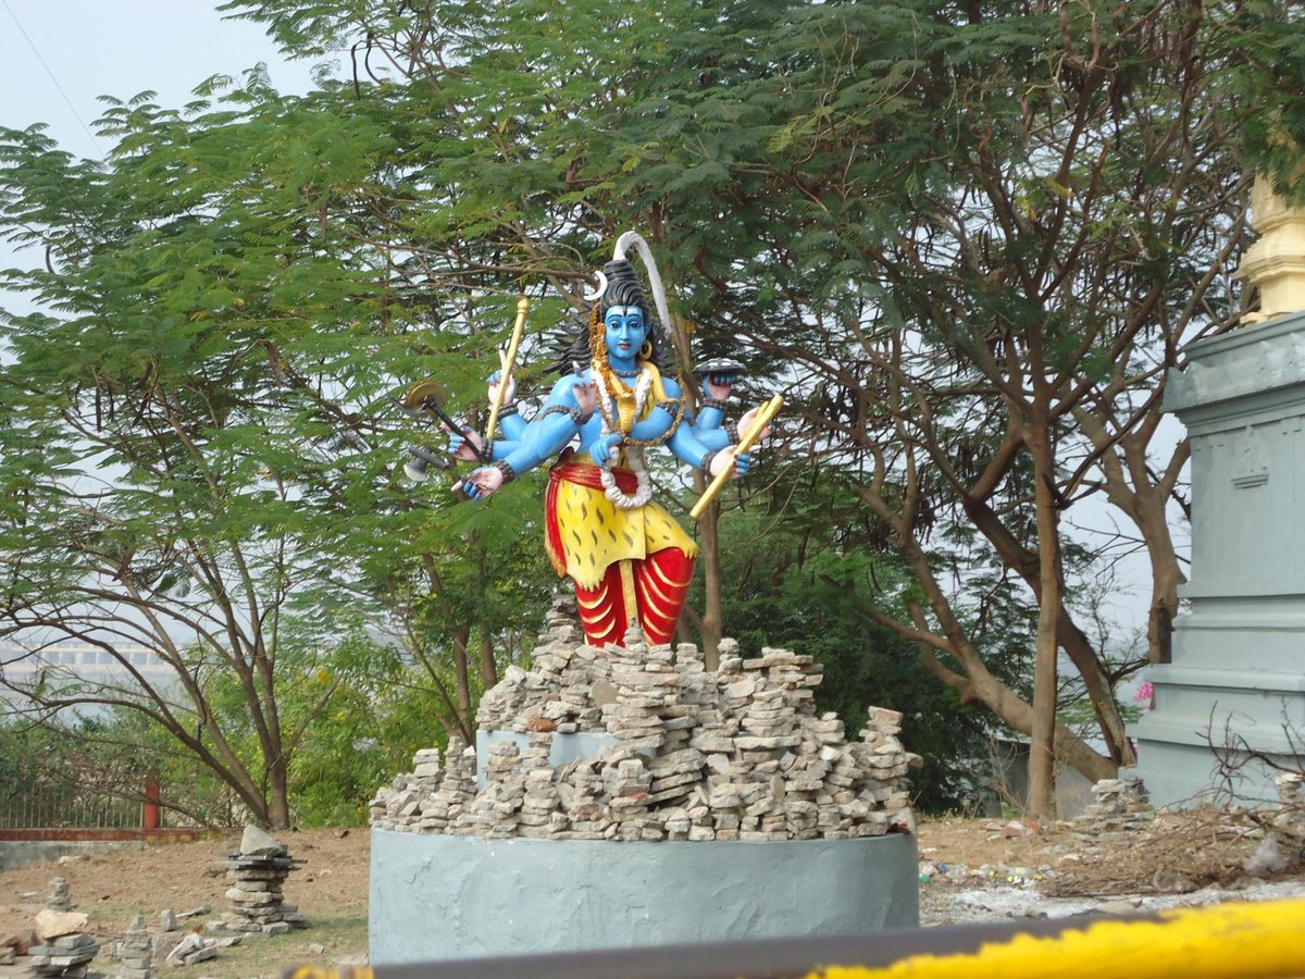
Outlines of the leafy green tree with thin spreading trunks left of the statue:
M290 647L291 604L375 546L348 533L355 514L412 509L382 412L397 377L436 359L403 333L442 300L398 317L376 283L382 133L329 98L281 99L257 70L202 93L223 87L184 115L114 104L103 166L39 127L0 134L8 236L47 252L8 278L56 311L5 317L0 633L114 657L129 681L20 692L40 710L145 713L283 828L298 740L334 696L282 717L290 663L311 670L324 647ZM142 676L133 645L175 684ZM253 753L215 709L224 677Z

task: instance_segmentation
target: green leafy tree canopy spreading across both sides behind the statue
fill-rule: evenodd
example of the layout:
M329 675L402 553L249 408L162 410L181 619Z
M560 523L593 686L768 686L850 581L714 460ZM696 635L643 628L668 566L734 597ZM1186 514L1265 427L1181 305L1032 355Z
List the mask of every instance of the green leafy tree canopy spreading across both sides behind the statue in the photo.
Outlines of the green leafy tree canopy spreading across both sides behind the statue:
M630 226L697 352L746 359L746 394L786 388L791 484L839 474L834 510L793 493L776 534L833 521L809 560L844 583L897 548L898 632L945 637L954 688L1018 691L1026 612L1060 600L1031 599L1028 569L1065 543L1037 529L1030 453L1053 453L1060 505L1105 487L1163 526L1172 486L1112 474L1152 462L1181 342L1236 321L1240 175L1291 191L1305 145L1300 16L1268 0L223 9L290 52L347 52L351 77L108 101L104 162L0 131L0 234L48 257L5 273L42 312L0 313L0 619L158 651L189 700L136 706L254 808L260 779L296 778L279 698L320 717L282 615L401 636L445 727L492 680L468 650L531 633L552 583L532 487L476 508L405 486L415 433L388 397L436 376L475 407L515 295L547 283L538 373L535 328ZM1164 604L1180 572L1154 526ZM820 574L774 593L783 628L804 603L852 615Z

